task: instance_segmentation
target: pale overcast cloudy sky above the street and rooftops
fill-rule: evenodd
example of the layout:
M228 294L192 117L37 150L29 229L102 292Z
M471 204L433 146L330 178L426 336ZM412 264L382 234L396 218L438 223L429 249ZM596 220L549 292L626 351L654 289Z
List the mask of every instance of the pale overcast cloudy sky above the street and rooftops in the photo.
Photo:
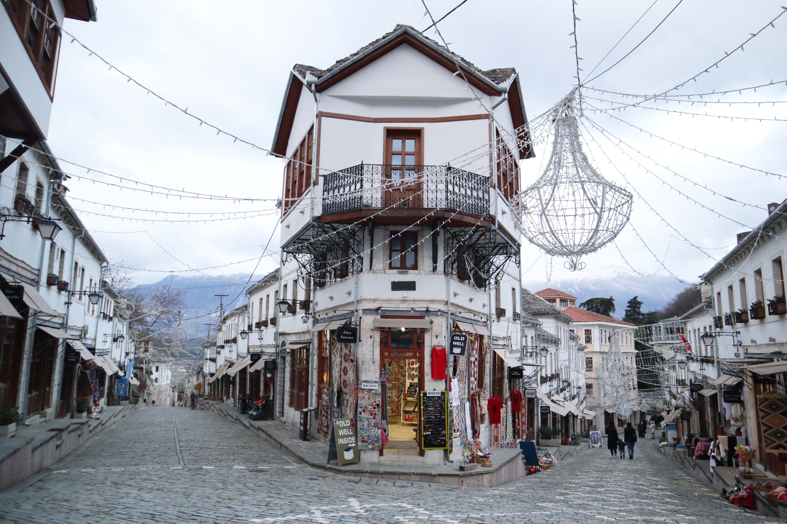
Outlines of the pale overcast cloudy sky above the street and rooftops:
M247 141L269 147L287 75L293 64L327 68L335 60L390 31L397 23L423 29L430 24L421 2L209 2L190 0L96 0L98 22L67 20L65 28L113 65L163 97ZM436 17L457 0L430 0ZM634 24L652 0L579 0L578 52L589 72ZM600 64L603 71L634 48L674 8L677 0L657 0L623 42ZM697 2L685 0L626 60L589 82L620 93L662 93L693 76L739 46L782 12L779 2ZM638 273L674 273L685 280L712 266L734 244L735 234L766 217L764 207L787 196L787 179L705 158L711 156L774 173L785 173L783 149L787 122L718 119L709 115L787 119L787 15L675 93L706 93L782 81L778 86L704 97L704 101L756 101L776 104L680 104L650 101L643 106L695 112L678 115L656 109L629 108L607 115L590 111L604 102L587 99L586 147L604 177L635 193L630 226L617 242ZM481 2L468 0L440 24L450 47L480 68L515 67L522 75L529 115L538 115L571 90L576 82L571 2ZM428 36L437 38L434 31ZM277 198L283 162L215 131L128 83L116 71L64 40L54 111L49 132L57 156L129 179L213 195ZM619 97L585 90L587 97ZM630 102L632 100L626 100ZM603 137L595 123L619 142ZM668 145L635 129L687 146ZM630 148L629 148L630 147ZM623 151L630 153L626 156ZM639 152L645 156L639 156ZM780 154L781 153L781 154ZM648 173L631 157L651 170ZM693 185L654 163L696 182ZM523 186L545 165L549 150L523 163ZM61 163L67 172L115 181ZM625 178L624 178L625 176ZM659 178L663 180L660 180ZM627 179L627 181L626 181ZM666 183L665 183L666 182ZM123 185L133 186L129 181ZM674 186L672 189L669 185ZM176 200L89 180L68 181L72 200L86 225L114 262L158 271L219 266L260 256L275 226L271 201L232 203ZM702 187L700 187L702 186ZM136 186L139 187L139 186ZM707 189L705 189L707 187ZM714 195L708 189L756 207ZM693 203L686 196L696 200ZM644 197L644 199L643 199ZM98 204L100 203L100 204ZM649 204L649 205L648 205ZM191 213L250 211L247 220L209 223L166 222L197 218L164 215L112 206ZM656 215L652 208L660 214ZM713 211L711 211L713 210ZM91 212L93 214L89 214ZM114 215L113 218L101 214ZM721 215L721 216L719 216ZM201 215L205 216L205 215ZM212 218L222 218L217 214ZM229 216L229 215L226 215ZM152 218L163 222L134 222ZM743 224L743 225L741 225ZM674 228L674 229L673 229ZM634 229L642 236L639 240ZM680 232L675 233L675 229ZM685 242L682 235L695 246ZM276 248L274 236L272 247ZM158 244L158 245L157 245ZM564 277L559 258L540 255L526 244L523 268L530 280ZM663 266L656 261L658 257ZM608 274L626 266L609 246L586 258L582 276ZM256 261L205 270L208 274L250 272ZM257 272L276 265L263 258ZM152 282L167 273L136 273ZM185 273L189 274L189 273ZM190 273L196 274L196 273Z

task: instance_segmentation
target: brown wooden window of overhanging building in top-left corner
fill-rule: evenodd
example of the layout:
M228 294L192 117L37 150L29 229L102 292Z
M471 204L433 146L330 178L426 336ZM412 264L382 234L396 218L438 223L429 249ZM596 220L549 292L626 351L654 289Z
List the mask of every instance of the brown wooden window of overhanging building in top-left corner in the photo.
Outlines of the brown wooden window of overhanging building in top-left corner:
M38 71L46 91L54 91L54 71L60 46L60 29L47 18L55 19L52 6L46 0L5 0L9 17L28 51L35 70Z

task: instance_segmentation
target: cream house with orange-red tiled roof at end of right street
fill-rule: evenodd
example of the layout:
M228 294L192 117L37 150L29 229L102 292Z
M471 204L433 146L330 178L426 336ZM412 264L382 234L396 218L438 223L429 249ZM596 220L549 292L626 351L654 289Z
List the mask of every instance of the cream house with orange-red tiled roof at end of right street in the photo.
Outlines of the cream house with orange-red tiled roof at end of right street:
M634 329L636 326L618 318L607 317L593 311L575 307L577 297L558 289L546 288L537 291L536 295L547 302L555 304L567 316L571 317L571 332L579 337L579 343L585 346L585 390L588 396L589 409L596 412L597 429L614 420L615 415L604 411L604 400L596 384L594 368L601 363L604 354L609 350L611 335L619 335L620 350L634 364ZM636 394L637 378L632 378L632 392ZM632 417L636 416L633 415ZM634 418L632 422L636 422ZM638 419L637 419L638 420Z

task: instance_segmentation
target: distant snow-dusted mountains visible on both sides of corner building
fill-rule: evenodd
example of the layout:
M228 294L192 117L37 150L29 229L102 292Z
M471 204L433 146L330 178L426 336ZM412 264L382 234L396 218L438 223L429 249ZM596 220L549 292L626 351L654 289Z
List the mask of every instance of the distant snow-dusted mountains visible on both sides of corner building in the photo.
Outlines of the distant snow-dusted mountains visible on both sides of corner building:
M255 274L250 284L253 284L264 275ZM246 302L249 273L235 273L230 275L217 275L206 277L197 275L184 277L168 275L153 284L139 284L135 291L150 292L156 289L169 287L173 290L183 290L183 299L186 301L187 310L195 310L202 315L219 310L219 297L222 298L225 311L242 306ZM678 282L673 277L655 275L653 277L640 277L631 273L629 269L621 266L607 266L598 269L593 276L560 278L555 280L523 280L523 287L530 291L539 291L543 288L555 288L566 291L578 298L577 305L593 297L613 297L615 299L614 316L622 317L626 309L626 302L637 296L642 302L642 311L658 310L667 305L674 295L686 288L685 284ZM199 314L198 313L198 314ZM213 319L216 317L214 316ZM200 323L208 322L205 317L196 319ZM211 320L215 322L215 320ZM201 328L204 330L204 328ZM204 331L203 331L204 332Z

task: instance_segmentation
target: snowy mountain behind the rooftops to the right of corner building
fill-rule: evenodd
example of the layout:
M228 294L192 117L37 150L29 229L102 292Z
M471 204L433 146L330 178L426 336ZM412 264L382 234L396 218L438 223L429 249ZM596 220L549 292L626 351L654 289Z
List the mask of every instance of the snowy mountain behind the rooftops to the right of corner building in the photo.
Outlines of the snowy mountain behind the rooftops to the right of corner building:
M578 272L575 278L556 279L551 282L527 280L526 276L523 286L533 292L544 288L566 291L579 299L577 306L586 299L611 296L615 299L614 317L623 317L626 302L634 296L638 296L643 302L642 311L653 311L666 306L674 295L687 287L667 275L640 277L631 273L630 269L619 266L608 266L602 271L603 276L600 277L582 277L582 272Z

